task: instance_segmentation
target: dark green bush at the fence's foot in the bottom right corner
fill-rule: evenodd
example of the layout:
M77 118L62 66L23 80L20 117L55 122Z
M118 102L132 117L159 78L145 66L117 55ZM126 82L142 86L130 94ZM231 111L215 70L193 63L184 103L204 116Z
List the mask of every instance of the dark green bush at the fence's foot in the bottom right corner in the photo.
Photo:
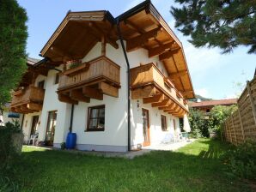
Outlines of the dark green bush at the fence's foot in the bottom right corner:
M256 180L256 142L247 141L222 156L229 174Z

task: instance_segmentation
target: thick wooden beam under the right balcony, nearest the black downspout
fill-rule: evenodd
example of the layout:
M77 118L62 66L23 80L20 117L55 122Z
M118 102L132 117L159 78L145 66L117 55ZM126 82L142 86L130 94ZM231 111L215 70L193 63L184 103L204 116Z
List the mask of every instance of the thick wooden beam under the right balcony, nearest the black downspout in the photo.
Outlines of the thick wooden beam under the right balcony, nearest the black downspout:
M155 95L156 88L154 86L146 86L142 88L136 88L131 91L131 99L142 99Z

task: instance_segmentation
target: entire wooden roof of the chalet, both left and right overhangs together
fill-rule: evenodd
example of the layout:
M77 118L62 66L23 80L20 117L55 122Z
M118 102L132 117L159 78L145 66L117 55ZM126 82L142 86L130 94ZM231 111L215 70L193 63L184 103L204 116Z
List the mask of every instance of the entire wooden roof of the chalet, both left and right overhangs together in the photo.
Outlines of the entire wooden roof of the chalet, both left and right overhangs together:
M149 57L158 56L180 93L186 99L195 97L182 44L149 0L116 18L107 10L69 12L40 54L52 62L82 59L102 37L118 48L118 24L126 51L144 48Z

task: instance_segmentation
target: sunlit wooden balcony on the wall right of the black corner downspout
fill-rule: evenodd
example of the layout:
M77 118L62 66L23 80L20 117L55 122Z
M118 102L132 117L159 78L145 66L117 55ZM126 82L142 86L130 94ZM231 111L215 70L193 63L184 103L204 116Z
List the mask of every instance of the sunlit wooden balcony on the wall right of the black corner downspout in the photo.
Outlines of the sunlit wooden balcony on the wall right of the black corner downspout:
M188 112L186 99L154 63L131 69L131 99L143 99L144 104L177 117Z

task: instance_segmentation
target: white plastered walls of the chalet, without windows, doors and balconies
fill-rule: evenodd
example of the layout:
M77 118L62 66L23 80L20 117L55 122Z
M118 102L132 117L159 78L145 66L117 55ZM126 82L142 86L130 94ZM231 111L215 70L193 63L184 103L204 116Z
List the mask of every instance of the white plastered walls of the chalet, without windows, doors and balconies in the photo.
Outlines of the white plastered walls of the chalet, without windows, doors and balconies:
M119 42L118 42L119 43ZM98 43L82 59L86 62L101 56L101 43ZM74 118L72 132L76 133L76 148L81 150L95 151L121 151L127 150L127 67L125 63L124 53L119 44L119 49L114 49L113 46L106 47L106 56L120 66L120 83L119 98L103 96L103 100L90 99L90 103L79 102L74 107ZM140 64L158 63L158 68L163 74L167 75L164 65L159 61L158 57L148 57L148 51L143 48L137 51L128 53L131 68L137 67ZM60 66L58 69L62 69ZM42 111L25 115L23 130L25 140L29 137L31 129L31 121L34 115L40 115L39 124L39 141L44 141L46 138L46 127L49 111L57 111L57 123L54 133L54 147L60 147L60 144L65 141L70 128L70 113L71 105L60 102L58 100L58 84L54 84L55 76L58 71L50 70L48 75L39 76L35 81L35 86L41 80L45 80L45 99ZM105 105L105 130L104 131L85 131L88 121L88 107L96 105ZM168 142L172 137L179 134L180 125L179 118L173 117L168 113L151 107L151 105L143 105L142 99L131 100L131 146L136 148L143 143L143 118L142 108L149 110L150 124L150 142L151 145ZM167 117L168 130L162 131L161 115ZM174 130L174 120L176 130Z

